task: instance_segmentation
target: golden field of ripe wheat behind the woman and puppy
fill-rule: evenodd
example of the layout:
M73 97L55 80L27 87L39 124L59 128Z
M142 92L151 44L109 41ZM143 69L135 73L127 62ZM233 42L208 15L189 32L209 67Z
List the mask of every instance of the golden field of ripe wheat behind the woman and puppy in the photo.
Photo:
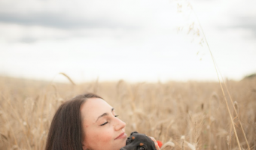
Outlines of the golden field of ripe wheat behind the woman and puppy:
M0 77L0 149L44 149L59 105L75 95L93 92L115 108L126 122L127 135L136 130L154 136L163 142L161 149L255 150L256 78L226 80L226 84L238 114L227 97L238 140L216 82L120 80L74 85Z

